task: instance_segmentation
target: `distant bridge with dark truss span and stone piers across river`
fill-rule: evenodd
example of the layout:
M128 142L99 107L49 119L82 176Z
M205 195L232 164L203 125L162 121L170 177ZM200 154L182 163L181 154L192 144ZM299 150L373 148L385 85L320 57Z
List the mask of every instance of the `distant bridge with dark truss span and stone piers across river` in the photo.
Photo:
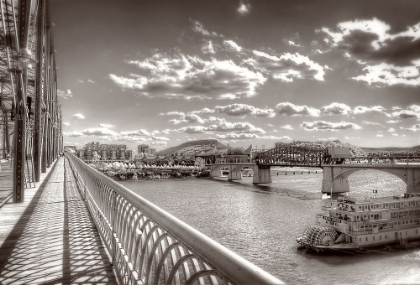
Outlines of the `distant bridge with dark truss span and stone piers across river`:
M379 170L403 180L408 193L420 193L420 157L416 156L333 158L328 149L283 146L258 153L254 160L255 163L218 163L206 166L210 168L212 177L221 176L222 168L228 168L228 180L242 179L242 170L249 167L254 171L254 184L271 183L272 166L323 168L324 193L349 192L347 178L351 174L360 170Z

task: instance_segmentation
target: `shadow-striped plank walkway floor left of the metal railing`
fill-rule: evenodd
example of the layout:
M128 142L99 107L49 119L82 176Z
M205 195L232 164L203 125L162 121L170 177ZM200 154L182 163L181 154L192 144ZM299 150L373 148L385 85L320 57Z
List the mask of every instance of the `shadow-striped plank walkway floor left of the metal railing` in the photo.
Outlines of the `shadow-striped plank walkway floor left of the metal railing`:
M0 209L0 284L117 284L64 158L43 177Z

